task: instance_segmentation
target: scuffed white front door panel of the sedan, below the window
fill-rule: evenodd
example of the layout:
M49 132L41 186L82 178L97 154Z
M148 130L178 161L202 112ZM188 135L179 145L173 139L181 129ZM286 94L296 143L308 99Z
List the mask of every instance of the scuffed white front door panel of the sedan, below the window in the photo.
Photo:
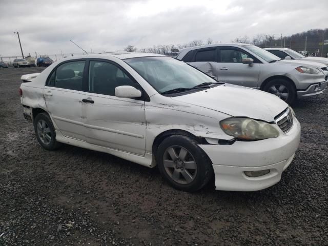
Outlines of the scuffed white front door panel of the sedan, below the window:
M145 154L145 102L88 93L87 142L138 155Z

